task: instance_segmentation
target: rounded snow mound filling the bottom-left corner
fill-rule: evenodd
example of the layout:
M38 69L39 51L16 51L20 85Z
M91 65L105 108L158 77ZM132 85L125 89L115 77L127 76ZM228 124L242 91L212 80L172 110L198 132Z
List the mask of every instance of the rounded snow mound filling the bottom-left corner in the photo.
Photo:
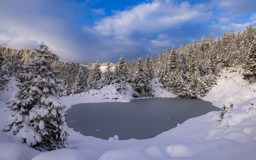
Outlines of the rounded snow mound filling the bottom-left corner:
M19 145L10 142L0 142L0 160L19 159L21 159L21 148Z

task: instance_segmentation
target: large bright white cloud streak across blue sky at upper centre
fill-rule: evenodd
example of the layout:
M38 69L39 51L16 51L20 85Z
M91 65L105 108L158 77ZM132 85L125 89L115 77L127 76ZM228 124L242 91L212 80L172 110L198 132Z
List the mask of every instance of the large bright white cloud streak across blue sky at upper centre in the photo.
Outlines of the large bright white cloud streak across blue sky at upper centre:
M126 36L136 31L151 33L179 28L187 22L205 22L211 16L211 11L207 11L202 4L191 6L188 2L173 4L156 0L104 18L97 22L94 29L104 35Z

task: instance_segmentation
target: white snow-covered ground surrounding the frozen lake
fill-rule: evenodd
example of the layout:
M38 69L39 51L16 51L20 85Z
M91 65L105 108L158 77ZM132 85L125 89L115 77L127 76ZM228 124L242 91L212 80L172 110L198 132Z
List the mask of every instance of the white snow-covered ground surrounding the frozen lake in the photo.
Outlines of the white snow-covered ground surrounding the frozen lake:
M0 131L0 160L27 160L34 156L33 160L255 159L256 83L249 84L249 81L242 78L237 72L224 71L222 77L218 78L218 85L203 99L220 108L223 104L234 104L221 123L217 121L219 112L212 111L189 119L154 138L123 141L83 136L69 129L66 149L45 153L23 145L10 133ZM9 90L0 93L0 128L5 126L7 117L11 114L4 101L15 90L14 83L11 81ZM170 92L160 89L159 84L152 85L155 97L174 97ZM110 85L101 90L81 93L81 96L63 97L61 101L69 108L79 103L129 102L131 99L129 89L126 94L118 93L114 85Z

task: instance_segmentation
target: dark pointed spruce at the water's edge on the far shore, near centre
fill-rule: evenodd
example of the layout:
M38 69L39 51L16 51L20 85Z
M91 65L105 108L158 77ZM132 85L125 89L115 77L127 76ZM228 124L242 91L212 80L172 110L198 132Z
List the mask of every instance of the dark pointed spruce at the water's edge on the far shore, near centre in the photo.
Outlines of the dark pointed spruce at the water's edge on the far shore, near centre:
M137 61L136 73L131 85L133 88L132 96L141 97L151 95L151 88L149 87L149 81L144 73L141 58Z

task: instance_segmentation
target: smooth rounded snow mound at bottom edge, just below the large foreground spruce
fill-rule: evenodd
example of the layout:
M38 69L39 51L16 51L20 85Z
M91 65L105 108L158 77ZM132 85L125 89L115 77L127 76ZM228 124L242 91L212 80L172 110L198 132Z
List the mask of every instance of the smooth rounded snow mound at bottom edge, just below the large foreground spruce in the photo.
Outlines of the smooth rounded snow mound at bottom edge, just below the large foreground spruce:
M31 160L94 160L81 151L73 149L60 149L41 153Z

